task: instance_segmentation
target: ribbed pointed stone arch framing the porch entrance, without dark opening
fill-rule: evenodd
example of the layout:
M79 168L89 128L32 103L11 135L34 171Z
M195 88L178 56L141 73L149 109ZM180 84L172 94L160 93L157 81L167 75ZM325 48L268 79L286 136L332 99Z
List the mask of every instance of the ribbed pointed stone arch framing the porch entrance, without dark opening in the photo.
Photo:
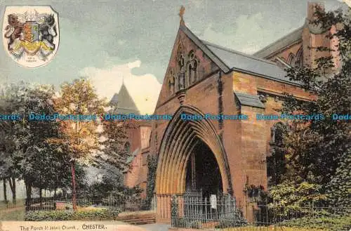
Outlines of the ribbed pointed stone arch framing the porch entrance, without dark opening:
M182 114L204 113L190 105L182 105L168 123L159 149L157 165L157 194L182 194L185 192L187 161L199 142L205 143L216 158L222 178L223 191L230 194L232 182L225 148L210 120L182 119Z

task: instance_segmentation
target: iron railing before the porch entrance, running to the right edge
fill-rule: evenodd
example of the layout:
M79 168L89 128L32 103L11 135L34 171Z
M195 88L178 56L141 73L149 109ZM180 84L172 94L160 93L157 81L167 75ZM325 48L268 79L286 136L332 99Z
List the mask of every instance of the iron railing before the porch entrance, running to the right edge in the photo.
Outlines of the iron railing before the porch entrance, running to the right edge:
M176 202L179 202L179 198ZM172 207L180 208L174 203ZM183 204L183 208L187 205ZM206 209L211 202L191 202L193 208L187 212L171 211L172 227L183 227L205 230L337 230L351 229L351 208L315 207L315 206L278 206L253 205L246 206L246 218L242 210L235 206L227 207L227 202L217 201L215 209ZM205 213L204 213L205 211ZM183 213L183 214L182 214ZM251 214L251 215L249 215ZM347 215L348 214L348 215ZM347 221L348 220L348 221ZM348 226L347 226L348 222ZM341 223L345 223L342 225Z

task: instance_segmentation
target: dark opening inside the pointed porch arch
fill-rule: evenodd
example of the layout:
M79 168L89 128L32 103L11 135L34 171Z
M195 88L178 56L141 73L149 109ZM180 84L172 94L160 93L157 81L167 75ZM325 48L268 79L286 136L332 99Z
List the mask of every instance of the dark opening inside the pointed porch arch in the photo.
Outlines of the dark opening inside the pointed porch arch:
M222 177L216 157L200 142L187 162L186 190L201 190L203 197L223 192Z

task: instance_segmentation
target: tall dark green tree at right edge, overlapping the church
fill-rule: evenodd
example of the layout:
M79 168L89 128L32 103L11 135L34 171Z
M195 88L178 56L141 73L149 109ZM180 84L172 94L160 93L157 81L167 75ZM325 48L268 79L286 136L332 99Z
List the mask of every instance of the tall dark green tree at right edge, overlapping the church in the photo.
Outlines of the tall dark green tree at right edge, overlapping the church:
M350 10L350 8L349 8ZM328 202L334 206L350 204L350 144L351 125L347 119L336 115L351 114L351 30L350 11L325 13L317 11L316 25L325 29L336 27L329 39L338 39L337 48L317 47L317 51L332 51L340 55L341 67L333 66L333 57L316 60L316 67L300 67L288 70L289 79L302 82L306 91L317 98L299 101L286 94L282 112L293 114L323 114L324 119L293 121L284 138L286 173L271 188L271 195L280 201ZM289 187L288 187L288 186ZM348 187L348 190L347 190ZM289 200L286 189L298 197ZM305 198L305 199L303 199Z

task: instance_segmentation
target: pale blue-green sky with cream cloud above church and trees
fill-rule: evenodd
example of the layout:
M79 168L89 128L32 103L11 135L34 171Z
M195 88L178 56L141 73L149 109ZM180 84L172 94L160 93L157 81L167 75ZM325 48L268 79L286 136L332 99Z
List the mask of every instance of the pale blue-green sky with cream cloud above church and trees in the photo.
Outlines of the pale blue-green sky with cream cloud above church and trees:
M321 2L327 10L341 5L336 0ZM194 34L244 53L258 51L300 27L307 11L305 0L0 0L0 17L6 5L26 4L51 5L58 12L60 47L48 65L34 70L21 67L0 48L1 81L59 86L86 76L106 97L119 90L122 78L159 91L181 5L186 8L185 24Z

